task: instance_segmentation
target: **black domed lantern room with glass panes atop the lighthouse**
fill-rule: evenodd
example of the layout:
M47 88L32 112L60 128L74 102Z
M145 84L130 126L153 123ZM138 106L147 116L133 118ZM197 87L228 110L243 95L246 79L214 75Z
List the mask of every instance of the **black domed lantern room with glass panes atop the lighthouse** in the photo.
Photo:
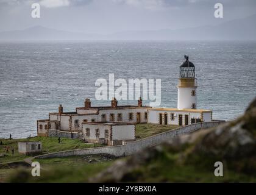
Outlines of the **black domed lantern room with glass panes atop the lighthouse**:
M196 70L194 64L188 60L188 55L184 55L184 58L186 61L180 66L180 78L194 79Z

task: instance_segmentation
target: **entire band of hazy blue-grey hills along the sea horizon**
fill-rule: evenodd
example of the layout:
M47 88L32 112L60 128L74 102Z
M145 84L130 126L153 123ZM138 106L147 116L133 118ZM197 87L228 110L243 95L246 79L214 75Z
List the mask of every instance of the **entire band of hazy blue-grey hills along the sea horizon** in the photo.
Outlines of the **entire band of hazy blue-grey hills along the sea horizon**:
M35 26L0 32L0 40L256 40L256 14L216 26L177 30L126 31L99 35Z

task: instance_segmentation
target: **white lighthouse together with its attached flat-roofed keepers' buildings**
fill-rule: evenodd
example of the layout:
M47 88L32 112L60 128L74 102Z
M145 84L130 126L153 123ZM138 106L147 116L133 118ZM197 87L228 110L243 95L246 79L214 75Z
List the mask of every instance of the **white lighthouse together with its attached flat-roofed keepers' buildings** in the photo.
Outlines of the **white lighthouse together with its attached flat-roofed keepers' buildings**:
M85 99L84 107L77 107L76 112L63 112L60 105L59 112L38 120L38 136L48 137L49 130L78 132L88 142L113 145L135 140L137 123L187 126L212 121L212 110L197 109L195 66L187 55L185 59L180 66L177 108L143 106L141 98L137 105L118 105L113 98L111 106L92 107L90 99Z

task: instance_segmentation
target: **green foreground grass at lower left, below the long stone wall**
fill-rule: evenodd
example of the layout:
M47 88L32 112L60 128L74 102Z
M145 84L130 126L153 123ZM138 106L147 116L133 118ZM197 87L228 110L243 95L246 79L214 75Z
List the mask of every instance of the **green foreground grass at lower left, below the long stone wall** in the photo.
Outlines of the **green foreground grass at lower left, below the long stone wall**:
M88 182L90 177L95 176L108 166L112 161L102 160L99 155L91 155L91 159L98 159L88 163L88 156L63 157L36 160L43 167L40 177L32 177L31 169L16 169L9 171L9 177L5 182Z

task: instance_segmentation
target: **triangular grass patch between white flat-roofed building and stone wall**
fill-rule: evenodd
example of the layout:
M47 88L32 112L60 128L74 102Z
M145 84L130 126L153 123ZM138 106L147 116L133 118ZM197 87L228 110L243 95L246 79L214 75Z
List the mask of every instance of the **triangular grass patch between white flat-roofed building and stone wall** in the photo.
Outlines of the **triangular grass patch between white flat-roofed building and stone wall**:
M135 137L137 139L143 139L168 130L177 129L178 127L179 126L174 125L163 126L160 124L137 124Z

